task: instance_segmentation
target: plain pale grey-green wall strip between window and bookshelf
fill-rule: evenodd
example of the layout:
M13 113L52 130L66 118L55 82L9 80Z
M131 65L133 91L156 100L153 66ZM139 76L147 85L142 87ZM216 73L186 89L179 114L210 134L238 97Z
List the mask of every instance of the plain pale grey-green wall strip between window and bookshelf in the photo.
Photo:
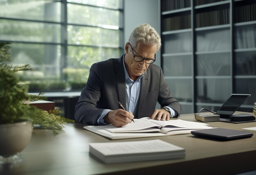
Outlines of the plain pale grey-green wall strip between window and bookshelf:
M132 30L141 23L148 23L160 32L159 0L124 0L124 45ZM160 35L161 36L161 35ZM155 64L160 66L160 50L156 53Z

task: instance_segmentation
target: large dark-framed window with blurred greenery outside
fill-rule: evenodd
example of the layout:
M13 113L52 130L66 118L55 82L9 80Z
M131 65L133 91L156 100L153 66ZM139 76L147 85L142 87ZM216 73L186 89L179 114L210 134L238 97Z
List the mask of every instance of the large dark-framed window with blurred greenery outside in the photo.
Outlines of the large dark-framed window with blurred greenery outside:
M122 0L0 0L0 42L11 42L13 65L29 92L80 91L90 66L118 58Z

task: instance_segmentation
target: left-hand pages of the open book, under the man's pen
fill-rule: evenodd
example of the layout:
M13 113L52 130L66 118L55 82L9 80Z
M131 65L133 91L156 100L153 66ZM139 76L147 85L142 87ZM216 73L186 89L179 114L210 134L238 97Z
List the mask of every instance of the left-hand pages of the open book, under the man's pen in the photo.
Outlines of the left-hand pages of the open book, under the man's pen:
M128 125L122 127L115 127L114 125L103 125L99 127L112 133L160 131L161 126L156 123L151 123L140 119L133 120L134 122L128 123Z

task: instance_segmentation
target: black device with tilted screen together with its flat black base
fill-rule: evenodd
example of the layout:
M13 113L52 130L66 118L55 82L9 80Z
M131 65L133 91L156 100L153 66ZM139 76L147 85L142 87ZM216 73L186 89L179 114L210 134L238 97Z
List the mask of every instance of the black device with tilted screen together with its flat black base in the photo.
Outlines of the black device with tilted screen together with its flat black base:
M220 121L230 122L230 123L242 123L248 121L255 121L255 117L251 114L234 114L236 110L245 103L247 98L251 94L231 94L229 99L220 107L220 109L215 113L220 115Z

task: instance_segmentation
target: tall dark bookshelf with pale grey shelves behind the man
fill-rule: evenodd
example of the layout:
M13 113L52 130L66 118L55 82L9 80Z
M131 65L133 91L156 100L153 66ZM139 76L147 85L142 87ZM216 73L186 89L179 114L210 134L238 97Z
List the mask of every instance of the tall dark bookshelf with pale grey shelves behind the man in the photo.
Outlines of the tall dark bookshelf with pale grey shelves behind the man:
M160 0L161 66L182 114L216 111L230 94L256 99L256 1Z

